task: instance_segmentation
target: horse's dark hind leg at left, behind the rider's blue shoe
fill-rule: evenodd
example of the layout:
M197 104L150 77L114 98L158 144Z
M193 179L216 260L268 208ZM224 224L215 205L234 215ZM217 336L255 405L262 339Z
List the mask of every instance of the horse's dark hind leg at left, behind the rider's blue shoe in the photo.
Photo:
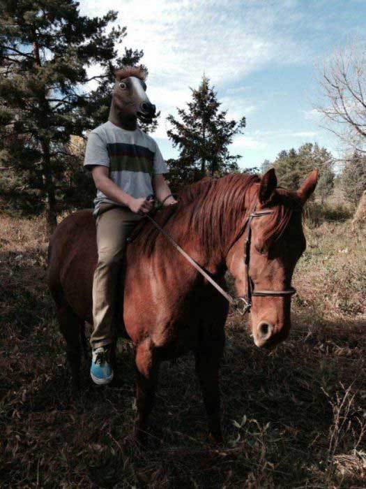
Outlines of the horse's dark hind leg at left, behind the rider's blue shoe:
M68 305L58 305L60 330L66 340L66 357L71 370L71 391L77 395L80 387L82 321Z

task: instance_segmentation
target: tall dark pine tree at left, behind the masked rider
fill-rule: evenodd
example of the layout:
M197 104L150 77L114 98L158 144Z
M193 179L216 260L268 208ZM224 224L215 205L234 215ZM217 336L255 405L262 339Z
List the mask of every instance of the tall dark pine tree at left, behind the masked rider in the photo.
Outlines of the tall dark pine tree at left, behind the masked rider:
M1 166L15 170L18 188L33 203L45 204L52 231L70 136L105 122L100 102L110 87L110 61L137 62L142 52L116 57L126 33L109 29L113 11L82 16L75 0L1 0L0 6ZM100 73L89 76L92 64ZM97 87L88 95L91 80Z

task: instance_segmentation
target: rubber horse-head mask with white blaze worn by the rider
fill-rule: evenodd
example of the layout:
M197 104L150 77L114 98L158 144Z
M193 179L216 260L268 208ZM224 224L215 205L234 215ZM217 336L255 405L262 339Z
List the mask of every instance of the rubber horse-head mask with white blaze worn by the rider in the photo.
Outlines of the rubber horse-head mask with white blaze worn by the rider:
M156 117L155 105L146 95L146 70L142 66L126 66L114 70L116 82L112 92L112 106L109 119L133 120L138 118L149 123Z

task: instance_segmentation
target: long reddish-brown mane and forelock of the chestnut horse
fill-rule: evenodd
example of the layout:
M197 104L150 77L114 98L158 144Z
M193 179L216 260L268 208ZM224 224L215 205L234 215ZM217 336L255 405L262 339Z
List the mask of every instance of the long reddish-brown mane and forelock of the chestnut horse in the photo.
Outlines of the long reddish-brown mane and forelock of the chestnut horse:
M258 175L245 173L219 179L205 177L185 187L178 195L177 204L163 207L153 218L162 228L169 223L169 233L179 226L187 239L194 234L205 249L224 251L224 243L228 244L227 240L234 239L240 232L247 210L254 210L258 191L249 190L260 181ZM259 185L257 187L259 189ZM300 200L292 192L276 189L266 207L274 210L264 229L264 240L268 241L280 238L292 211L300 209ZM135 245L143 254L151 256L160 234L153 224L143 219L132 234L132 241L136 240ZM184 243L180 240L179 244Z

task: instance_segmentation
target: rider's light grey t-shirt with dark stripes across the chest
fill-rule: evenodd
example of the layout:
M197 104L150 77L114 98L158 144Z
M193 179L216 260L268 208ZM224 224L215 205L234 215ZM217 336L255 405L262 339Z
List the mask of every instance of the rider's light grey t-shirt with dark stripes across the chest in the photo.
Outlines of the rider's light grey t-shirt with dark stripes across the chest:
M153 175L168 171L153 138L141 129L126 131L109 121L89 134L84 166L95 165L107 166L109 178L135 198L153 194ZM115 202L98 190L94 199L94 215L98 214L101 203Z

